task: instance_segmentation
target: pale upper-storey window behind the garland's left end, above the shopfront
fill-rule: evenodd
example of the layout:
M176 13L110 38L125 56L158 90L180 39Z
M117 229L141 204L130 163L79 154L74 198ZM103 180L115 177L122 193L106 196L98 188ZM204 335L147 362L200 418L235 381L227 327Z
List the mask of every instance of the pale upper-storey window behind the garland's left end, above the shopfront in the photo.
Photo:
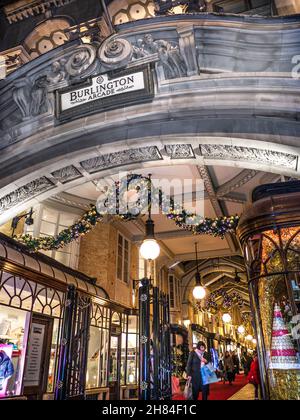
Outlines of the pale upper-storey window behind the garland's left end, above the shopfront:
M25 233L39 236L56 236L62 230L72 226L78 219L78 215L61 212L42 205L34 208L34 224L25 226ZM73 241L64 248L53 251L41 251L60 263L77 269L79 263L80 243Z

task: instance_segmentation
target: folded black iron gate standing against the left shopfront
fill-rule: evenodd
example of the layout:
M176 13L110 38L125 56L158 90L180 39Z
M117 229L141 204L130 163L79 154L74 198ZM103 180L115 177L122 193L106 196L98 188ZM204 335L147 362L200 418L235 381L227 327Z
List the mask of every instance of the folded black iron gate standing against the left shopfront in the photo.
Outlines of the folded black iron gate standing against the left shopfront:
M68 287L58 366L56 400L84 399L91 298Z

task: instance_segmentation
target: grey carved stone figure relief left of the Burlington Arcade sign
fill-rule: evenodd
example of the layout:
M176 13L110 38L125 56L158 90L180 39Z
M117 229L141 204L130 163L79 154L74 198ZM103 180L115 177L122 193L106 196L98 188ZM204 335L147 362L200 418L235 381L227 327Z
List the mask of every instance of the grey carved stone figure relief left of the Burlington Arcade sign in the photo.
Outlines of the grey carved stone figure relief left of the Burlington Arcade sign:
M50 102L47 76L40 76L33 83L28 79L17 80L13 99L21 111L23 120L48 112Z

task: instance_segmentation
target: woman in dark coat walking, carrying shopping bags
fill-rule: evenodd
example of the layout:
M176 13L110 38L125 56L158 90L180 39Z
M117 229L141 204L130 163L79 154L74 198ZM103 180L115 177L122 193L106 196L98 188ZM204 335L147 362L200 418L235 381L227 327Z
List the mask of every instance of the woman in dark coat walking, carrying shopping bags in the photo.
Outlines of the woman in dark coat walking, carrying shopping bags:
M188 378L192 380L193 400L198 400L199 392L202 392L203 401L208 399L209 385L203 385L201 365L210 363L210 361L206 345L203 341L199 341L197 348L191 351L186 367Z

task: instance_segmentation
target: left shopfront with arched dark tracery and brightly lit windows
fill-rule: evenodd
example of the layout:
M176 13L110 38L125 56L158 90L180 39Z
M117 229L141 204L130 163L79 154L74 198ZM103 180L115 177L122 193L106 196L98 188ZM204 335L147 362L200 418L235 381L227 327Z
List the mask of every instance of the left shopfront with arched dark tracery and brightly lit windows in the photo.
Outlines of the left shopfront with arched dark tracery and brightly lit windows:
M0 398L55 398L70 285L90 302L84 395L134 397L136 314L110 302L90 278L0 235Z

